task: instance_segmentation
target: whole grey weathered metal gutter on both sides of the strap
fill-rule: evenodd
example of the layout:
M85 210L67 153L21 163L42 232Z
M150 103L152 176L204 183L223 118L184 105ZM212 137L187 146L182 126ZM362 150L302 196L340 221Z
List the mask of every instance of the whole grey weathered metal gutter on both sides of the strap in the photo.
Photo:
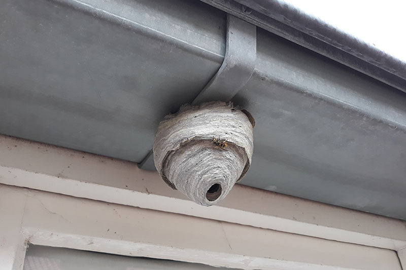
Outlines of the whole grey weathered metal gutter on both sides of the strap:
M170 3L1 2L0 133L140 162L225 54L224 13ZM406 219L406 93L258 29L232 101L256 120L243 184Z

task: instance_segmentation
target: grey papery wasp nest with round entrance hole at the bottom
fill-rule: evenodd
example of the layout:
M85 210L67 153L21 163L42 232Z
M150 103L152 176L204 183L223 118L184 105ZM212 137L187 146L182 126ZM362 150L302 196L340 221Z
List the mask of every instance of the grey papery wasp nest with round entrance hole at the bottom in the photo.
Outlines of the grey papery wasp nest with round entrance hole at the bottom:
M184 105L155 133L154 162L162 179L197 204L228 194L251 164L254 119L232 103Z

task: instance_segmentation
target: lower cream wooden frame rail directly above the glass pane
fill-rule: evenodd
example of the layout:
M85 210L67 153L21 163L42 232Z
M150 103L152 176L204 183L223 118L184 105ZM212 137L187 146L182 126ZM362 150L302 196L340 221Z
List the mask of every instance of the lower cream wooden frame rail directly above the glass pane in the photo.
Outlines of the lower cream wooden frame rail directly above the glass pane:
M243 269L401 269L388 249L3 184L0 198L25 201L17 228L33 244Z

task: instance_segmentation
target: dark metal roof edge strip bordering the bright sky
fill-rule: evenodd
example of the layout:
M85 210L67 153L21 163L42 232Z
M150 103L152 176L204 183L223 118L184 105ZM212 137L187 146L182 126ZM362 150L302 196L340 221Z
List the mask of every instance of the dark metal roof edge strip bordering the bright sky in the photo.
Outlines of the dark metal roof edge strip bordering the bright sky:
M200 0L406 92L406 63L279 0Z

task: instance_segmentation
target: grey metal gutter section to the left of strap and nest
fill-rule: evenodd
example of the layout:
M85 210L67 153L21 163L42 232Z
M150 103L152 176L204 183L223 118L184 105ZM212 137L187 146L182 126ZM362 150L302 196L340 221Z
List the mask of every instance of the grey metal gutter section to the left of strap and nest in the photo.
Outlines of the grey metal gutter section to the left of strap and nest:
M187 0L5 0L0 18L0 133L135 162L225 53L226 15Z

